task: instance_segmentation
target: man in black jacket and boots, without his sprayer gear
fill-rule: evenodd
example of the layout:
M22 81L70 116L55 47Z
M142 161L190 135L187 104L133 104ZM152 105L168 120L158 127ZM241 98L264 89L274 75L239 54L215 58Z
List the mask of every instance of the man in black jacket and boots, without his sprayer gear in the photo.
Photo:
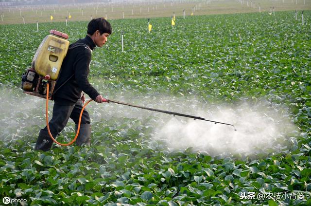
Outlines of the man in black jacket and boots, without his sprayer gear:
M65 128L69 117L76 124L77 131L80 112L85 101L84 93L98 103L105 101L103 96L89 83L87 76L92 50L96 46L102 47L111 33L111 25L104 18L92 19L87 25L86 37L69 46L53 94L53 116L49 122L53 138ZM90 145L90 135L90 117L84 110L76 145ZM52 143L47 127L45 127L39 132L35 150L48 151Z

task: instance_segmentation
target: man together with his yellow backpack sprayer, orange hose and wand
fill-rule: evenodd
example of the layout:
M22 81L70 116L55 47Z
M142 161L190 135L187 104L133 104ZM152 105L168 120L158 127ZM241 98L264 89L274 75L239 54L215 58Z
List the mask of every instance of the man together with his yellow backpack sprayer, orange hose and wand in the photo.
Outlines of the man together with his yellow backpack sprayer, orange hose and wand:
M103 98L89 83L87 76L89 74L92 50L96 46L102 47L111 33L110 23L104 18L98 18L92 19L88 23L86 37L79 39L70 46L67 40L68 35L55 30L51 30L51 35L43 39L35 54L32 68L28 69L22 76L22 89L24 93L47 99L47 126L40 130L35 150L48 151L51 149L53 142L62 146L68 146L74 142L78 146L82 144L89 146L91 125L90 117L85 107L92 100L98 103L112 102L234 127L231 124L206 120L198 116L141 107ZM83 105L85 94L89 95L91 100ZM49 99L54 100L50 122L48 121ZM57 142L55 138L65 128L69 118L75 123L76 135L70 143L62 144Z

